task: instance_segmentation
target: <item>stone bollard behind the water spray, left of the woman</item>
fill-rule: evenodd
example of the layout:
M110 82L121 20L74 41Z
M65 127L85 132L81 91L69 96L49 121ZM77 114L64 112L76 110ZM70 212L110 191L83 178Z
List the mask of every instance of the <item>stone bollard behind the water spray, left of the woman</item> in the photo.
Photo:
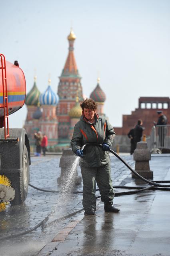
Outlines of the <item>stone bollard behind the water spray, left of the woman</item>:
M64 148L62 150L62 156L60 158L60 165L61 167L61 174L60 177L57 179L58 184L64 183L64 180L67 178L68 173L70 171L70 167L72 163L76 160L76 155L72 152L71 148ZM77 164L78 165L78 164ZM79 185L82 181L82 177L78 176L77 172L77 166L76 166L76 171L74 172L74 177L72 177L74 180L74 185Z

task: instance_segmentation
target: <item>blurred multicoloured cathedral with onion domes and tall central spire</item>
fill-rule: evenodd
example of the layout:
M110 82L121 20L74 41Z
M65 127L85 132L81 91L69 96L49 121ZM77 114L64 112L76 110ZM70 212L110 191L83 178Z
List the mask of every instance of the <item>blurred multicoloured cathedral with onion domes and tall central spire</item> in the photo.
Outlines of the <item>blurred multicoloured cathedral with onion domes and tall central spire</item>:
M24 128L26 129L30 145L34 145L34 133L41 131L48 137L48 147L60 150L70 146L74 125L82 115L80 103L84 100L81 77L74 57L74 41L76 36L71 30L67 37L69 48L64 69L59 77L57 94L51 87L51 80L48 79L48 86L44 93L41 93L34 85L26 95L27 117ZM97 113L103 113L106 95L98 83L90 94L90 98L98 103Z

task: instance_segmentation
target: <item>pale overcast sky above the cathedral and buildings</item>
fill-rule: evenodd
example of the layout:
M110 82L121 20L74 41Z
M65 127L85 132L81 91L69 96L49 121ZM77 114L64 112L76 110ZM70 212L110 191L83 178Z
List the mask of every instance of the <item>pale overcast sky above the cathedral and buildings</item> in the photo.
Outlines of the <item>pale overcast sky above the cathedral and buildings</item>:
M51 74L57 91L68 55L70 27L74 54L89 97L100 76L104 113L114 127L138 108L141 96L170 97L170 0L5 0L1 2L0 52L18 60L27 92L34 82L44 92ZM21 128L26 106L10 116Z

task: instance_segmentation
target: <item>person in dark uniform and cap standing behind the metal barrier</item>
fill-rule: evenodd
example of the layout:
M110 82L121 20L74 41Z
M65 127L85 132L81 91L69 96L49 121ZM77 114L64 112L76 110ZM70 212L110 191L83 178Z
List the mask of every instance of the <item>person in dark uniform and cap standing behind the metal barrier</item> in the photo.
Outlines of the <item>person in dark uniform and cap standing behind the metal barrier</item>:
M159 135L160 146L164 147L164 142L166 137L167 117L162 113L162 110L158 110L157 114L158 114L158 121L156 126L158 125L158 135Z

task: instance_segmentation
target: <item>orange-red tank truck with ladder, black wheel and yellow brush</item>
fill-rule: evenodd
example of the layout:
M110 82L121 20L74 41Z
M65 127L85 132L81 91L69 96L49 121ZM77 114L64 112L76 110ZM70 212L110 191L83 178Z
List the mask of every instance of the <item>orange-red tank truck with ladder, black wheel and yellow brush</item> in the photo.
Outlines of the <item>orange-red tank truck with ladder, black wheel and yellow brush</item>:
M28 136L23 128L9 128L8 122L8 116L22 108L25 98L26 81L18 61L12 64L0 54L0 210L8 201L24 202L28 193Z

